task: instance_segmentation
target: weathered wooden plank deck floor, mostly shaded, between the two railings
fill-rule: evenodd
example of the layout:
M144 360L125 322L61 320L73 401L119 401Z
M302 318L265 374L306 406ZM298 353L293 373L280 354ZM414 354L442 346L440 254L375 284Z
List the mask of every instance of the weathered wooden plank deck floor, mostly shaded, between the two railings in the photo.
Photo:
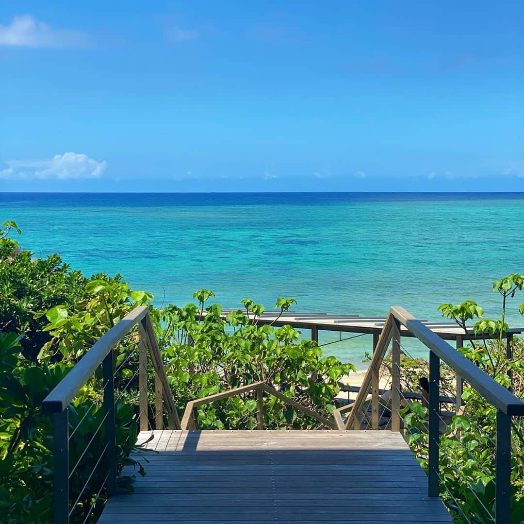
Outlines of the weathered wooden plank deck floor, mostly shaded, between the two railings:
M399 433L151 433L147 475L100 522L452 522Z

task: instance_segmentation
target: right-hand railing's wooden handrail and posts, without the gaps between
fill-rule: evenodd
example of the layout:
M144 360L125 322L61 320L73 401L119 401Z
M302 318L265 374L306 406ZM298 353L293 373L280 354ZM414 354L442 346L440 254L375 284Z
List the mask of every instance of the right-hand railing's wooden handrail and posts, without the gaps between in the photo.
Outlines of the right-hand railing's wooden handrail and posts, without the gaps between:
M454 370L462 380L474 388L497 409L496 419L496 524L510 521L510 462L511 462L511 418L524 415L524 402L496 380L479 369L431 329L414 318L405 309L390 308L384 328L376 341L368 371L364 377L356 400L334 411L335 426L339 430L361 429L361 415L368 395L371 393L370 426L379 429L379 369L392 341L391 350L391 431L401 430L400 415L400 370L401 370L401 326L416 336L429 349L429 451L428 451L428 494L440 494L439 476L439 419L440 419L440 376L441 361ZM366 409L367 410L367 409ZM349 413L347 419L344 415Z

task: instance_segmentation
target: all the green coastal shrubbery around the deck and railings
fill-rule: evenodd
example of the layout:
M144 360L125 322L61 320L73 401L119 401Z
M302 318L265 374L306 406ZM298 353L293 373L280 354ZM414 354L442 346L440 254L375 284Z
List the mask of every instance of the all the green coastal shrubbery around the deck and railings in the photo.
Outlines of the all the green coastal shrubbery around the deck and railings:
M223 318L223 308L210 304L210 290L195 292L179 307L152 307L152 296L132 290L121 275L84 276L71 270L60 255L34 258L21 250L13 234L15 222L0 229L0 514L7 522L47 522L51 519L52 419L42 413L46 395L108 329L137 304L148 305L170 387L181 415L185 404L244 384L264 381L289 398L330 417L342 378L354 371L351 364L323 356L315 341L300 339L290 326L259 325L264 306L245 299L243 307ZM484 317L473 301L443 304L440 311L461 327L476 322L477 334L499 334L495 340L467 340L462 354L488 375L524 398L524 344L514 338L511 357L504 338L509 307L524 314L524 304L512 299L524 286L524 275L511 274L494 283L501 295L500 318ZM287 311L294 298L278 298L275 307ZM119 472L137 464L144 451L134 445L137 433L137 335L126 336L114 349L116 441ZM387 366L387 361L385 363ZM427 365L409 355L402 357L402 389L417 391L427 376ZM151 380L154 380L151 374ZM103 447L100 427L103 412L102 375L95 373L70 408L71 463L89 464ZM443 366L441 390L454 397L454 374ZM440 437L442 498L458 523L490 522L495 502L496 410L467 384L463 406L452 413ZM453 408L454 409L454 408ZM201 429L253 429L257 404L249 395L203 405L198 410ZM428 467L428 408L410 402L403 408L408 443L422 467ZM150 415L151 421L154 413ZM297 414L277 398L264 399L265 426L308 428L318 424ZM512 522L524 520L524 422L512 421ZM147 454L144 454L147 459ZM137 474L147 473L137 464ZM88 480L72 521L83 521L93 504L93 520L103 500L96 498L101 473ZM71 491L80 493L86 483L82 468L70 479ZM118 480L121 489L133 489L133 478Z

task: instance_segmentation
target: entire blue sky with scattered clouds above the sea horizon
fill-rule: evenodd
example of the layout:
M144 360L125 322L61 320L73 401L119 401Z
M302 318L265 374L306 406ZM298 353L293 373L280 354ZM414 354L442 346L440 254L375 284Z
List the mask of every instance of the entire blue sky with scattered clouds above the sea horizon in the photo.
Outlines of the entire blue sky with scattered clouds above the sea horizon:
M0 190L524 190L522 2L9 2Z

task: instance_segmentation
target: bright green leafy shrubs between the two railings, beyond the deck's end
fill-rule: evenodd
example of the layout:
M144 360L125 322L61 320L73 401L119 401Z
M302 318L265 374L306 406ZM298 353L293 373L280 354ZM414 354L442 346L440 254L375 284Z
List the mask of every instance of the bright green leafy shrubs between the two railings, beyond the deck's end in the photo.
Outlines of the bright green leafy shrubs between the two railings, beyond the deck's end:
M194 296L203 297L208 290ZM211 293L211 292L210 292ZM209 294L208 296L214 296ZM205 299L204 299L205 300ZM294 298L278 298L281 313ZM168 306L157 314L157 334L171 388L179 409L195 398L206 397L245 384L264 381L319 414L329 416L340 379L350 371L335 357L323 357L316 342L300 340L299 331L286 325L276 328L260 322L264 306L244 299L240 309L221 317L222 306L212 304L203 312L194 304ZM201 429L253 429L256 402L251 394L230 398L199 409ZM264 399L265 427L316 427L281 401Z

